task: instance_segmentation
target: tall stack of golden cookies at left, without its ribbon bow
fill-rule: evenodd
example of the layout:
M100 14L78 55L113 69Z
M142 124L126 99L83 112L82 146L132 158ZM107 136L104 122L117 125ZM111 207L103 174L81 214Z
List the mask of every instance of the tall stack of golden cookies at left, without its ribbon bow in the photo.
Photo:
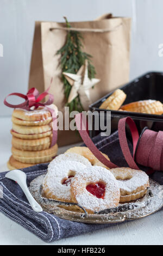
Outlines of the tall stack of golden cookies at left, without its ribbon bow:
M55 105L50 105L57 113ZM20 169L52 161L58 145L51 147L52 115L45 107L33 111L15 108L12 113L12 155L8 168Z

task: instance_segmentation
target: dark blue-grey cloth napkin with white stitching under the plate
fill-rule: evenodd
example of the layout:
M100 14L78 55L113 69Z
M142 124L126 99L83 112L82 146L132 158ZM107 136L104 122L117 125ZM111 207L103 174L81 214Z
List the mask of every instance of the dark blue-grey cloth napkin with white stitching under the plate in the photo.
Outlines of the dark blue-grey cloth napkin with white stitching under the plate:
M93 138L96 146L103 153L108 154L110 160L118 166L127 166L118 141L118 133L109 137L100 135ZM129 142L129 147L131 143ZM27 174L27 184L37 176L47 172L48 164L37 164L36 166L23 169ZM0 191L3 190L3 198L0 193L0 211L11 220L22 225L45 242L53 242L68 236L76 236L95 230L111 227L116 224L85 224L62 220L61 218L48 214L47 212L36 213L30 207L26 196L15 181L5 178L5 173L0 173ZM152 178L163 184L163 173L156 172Z

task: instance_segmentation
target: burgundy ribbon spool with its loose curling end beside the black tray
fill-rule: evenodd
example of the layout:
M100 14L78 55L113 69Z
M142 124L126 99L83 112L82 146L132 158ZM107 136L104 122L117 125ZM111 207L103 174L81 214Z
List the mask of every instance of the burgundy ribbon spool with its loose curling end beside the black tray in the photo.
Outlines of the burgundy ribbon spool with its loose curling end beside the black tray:
M97 157L105 166L109 168L116 168L116 164L106 159L102 153L97 149L96 145L92 142L86 129L82 129L85 126L82 121L82 114L76 115L76 124L85 145L91 150L92 154ZM126 137L126 124L128 124L131 136L133 139L133 156L130 153ZM163 132L155 132L149 129L144 129L139 136L139 132L134 123L134 120L130 117L122 118L118 122L118 136L120 140L120 146L124 158L126 159L128 166L132 169L139 170L136 162L145 167L150 167L154 170L163 170ZM136 161L136 162L135 162ZM148 174L151 174L149 170Z

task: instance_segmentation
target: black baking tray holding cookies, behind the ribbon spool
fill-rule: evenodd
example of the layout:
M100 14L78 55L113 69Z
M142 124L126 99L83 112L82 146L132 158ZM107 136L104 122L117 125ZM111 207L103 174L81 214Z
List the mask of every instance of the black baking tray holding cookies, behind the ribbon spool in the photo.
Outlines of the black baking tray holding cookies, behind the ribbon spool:
M134 81L125 84L120 89L127 94L127 99L123 103L124 105L134 101L149 99L163 102L163 72L148 72L145 75L136 78ZM104 111L105 114L107 111L110 111L109 109L99 109L99 106L101 106L102 102L105 101L113 92L110 92L95 103L92 103L89 107L90 111ZM111 132L117 129L118 120L124 117L133 118L140 132L145 126L154 131L163 131L163 115L111 110ZM90 131L91 137L96 136L101 132L100 129L95 131L94 124L92 127L92 131Z

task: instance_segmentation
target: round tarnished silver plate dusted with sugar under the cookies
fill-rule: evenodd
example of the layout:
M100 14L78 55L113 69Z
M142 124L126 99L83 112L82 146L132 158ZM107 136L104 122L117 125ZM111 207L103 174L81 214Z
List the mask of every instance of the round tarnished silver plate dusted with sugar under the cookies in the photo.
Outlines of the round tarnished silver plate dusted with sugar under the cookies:
M30 183L29 191L32 193L35 200L42 206L43 211L57 215L69 221L77 221L84 223L118 223L127 220L137 220L154 214L163 207L162 186L154 180L149 180L150 188L148 188L145 197L136 200L135 202L120 204L118 208L112 209L109 212L101 214L82 214L82 212L70 211L60 208L59 206L43 200L40 196L40 187L43 177L40 175Z

